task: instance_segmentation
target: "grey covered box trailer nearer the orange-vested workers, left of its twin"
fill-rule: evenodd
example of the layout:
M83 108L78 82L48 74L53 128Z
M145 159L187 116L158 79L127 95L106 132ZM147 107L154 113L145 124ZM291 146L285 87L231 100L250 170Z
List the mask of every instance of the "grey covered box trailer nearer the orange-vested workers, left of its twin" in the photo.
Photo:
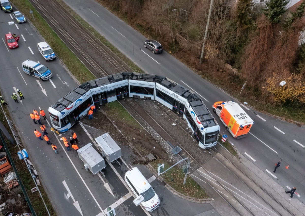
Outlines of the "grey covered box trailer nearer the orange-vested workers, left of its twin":
M85 169L90 169L93 175L106 167L104 158L92 147L91 143L78 149L77 153L81 161L83 161Z

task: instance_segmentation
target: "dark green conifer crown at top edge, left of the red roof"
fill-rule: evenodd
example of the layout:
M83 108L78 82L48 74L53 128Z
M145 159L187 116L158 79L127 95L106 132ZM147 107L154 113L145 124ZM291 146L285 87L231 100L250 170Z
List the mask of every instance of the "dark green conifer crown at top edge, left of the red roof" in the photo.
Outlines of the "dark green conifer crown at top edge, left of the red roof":
M276 24L281 21L281 15L286 12L286 5L289 0L269 0L266 2L264 14L267 16L271 24Z

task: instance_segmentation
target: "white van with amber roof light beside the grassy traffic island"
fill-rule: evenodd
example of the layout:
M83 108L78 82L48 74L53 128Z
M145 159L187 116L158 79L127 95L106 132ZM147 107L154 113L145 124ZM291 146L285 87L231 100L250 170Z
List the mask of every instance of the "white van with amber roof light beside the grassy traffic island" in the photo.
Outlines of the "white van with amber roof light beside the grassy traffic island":
M141 204L147 211L153 211L160 205L158 195L138 168L134 167L128 170L124 179L136 197L141 195L144 197Z

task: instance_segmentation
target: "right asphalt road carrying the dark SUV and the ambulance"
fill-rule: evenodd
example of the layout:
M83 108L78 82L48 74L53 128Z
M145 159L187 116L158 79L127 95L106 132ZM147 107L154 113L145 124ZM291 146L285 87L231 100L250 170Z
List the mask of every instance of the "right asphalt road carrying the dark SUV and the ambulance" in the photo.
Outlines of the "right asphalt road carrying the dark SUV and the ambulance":
M145 49L143 41L147 38L94 0L86 2L64 0L64 2L144 71L166 76L198 93L211 112L214 102L234 100L229 94L196 75L166 51L154 55ZM221 133L228 134L228 138L241 154L281 186L284 188L296 186L297 192L301 195L296 199L304 202L305 170L302 159L305 151L303 139L305 127L281 121L250 107L244 109L255 122L249 136L235 140L218 120ZM216 115L214 117L218 119ZM273 176L274 164L278 160L282 160L282 165ZM286 165L289 165L289 169L285 169Z

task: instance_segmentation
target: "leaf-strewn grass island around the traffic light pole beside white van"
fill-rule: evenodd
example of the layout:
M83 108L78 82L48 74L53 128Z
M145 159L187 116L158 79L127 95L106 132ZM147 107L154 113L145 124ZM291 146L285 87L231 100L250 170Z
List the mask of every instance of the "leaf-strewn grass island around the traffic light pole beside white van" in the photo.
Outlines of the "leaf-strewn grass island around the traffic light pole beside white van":
M150 165L157 170L158 164L164 164L164 170L170 168L170 164L167 161L160 158L151 161ZM181 194L195 199L208 199L210 195L190 176L187 177L185 185L183 185L185 173L182 172L182 168L179 165L174 166L166 173L162 174L164 181L170 185L173 189Z

